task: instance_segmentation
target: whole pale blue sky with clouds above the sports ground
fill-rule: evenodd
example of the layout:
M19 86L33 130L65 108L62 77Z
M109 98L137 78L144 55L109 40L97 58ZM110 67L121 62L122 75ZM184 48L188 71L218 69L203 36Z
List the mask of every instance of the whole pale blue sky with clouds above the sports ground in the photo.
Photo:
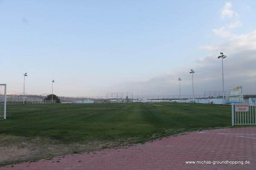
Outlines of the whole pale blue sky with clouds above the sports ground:
M27 94L256 94L256 1L0 0L0 83Z

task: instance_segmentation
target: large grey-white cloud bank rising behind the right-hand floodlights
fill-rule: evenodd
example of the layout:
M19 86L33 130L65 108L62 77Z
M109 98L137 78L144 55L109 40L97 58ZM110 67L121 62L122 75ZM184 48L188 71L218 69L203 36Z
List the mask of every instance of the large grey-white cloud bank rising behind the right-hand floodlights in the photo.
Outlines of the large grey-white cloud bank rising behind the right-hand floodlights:
M205 45L201 49L210 51L206 57L198 58L195 65L186 65L172 73L152 77L143 82L129 82L122 85L123 89L140 91L139 95L178 95L180 77L181 93L192 94L192 76L190 69L195 70L195 94L204 91L222 91L221 60L217 58L224 52L224 88L228 91L232 87L242 86L244 94L256 94L256 31L230 38L227 43L220 45Z

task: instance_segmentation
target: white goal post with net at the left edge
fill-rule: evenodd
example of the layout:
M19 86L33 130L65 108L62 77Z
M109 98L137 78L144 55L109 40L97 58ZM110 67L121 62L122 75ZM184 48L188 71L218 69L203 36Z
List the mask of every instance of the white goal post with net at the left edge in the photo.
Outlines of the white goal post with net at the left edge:
M6 119L6 84L0 84L0 120Z

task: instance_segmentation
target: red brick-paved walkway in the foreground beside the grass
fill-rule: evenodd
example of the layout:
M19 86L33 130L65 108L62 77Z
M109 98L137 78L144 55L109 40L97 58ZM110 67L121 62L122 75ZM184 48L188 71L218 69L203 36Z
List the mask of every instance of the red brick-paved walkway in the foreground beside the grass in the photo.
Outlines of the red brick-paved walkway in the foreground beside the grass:
M185 161L250 161L186 164ZM256 127L204 130L126 149L67 155L0 170L256 170Z

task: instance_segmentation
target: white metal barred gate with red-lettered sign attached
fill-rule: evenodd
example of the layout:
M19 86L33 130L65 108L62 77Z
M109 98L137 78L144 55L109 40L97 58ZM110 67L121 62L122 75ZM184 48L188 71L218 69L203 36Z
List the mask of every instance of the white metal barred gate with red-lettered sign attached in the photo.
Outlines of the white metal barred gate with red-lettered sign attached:
M232 104L232 126L256 125L256 103Z

